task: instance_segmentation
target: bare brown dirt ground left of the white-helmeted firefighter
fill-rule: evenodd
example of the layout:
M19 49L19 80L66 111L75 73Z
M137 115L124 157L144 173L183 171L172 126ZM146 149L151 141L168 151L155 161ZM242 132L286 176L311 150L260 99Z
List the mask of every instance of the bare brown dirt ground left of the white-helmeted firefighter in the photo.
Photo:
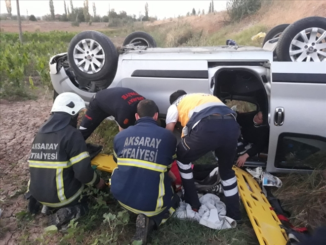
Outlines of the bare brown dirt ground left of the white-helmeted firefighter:
M26 210L24 193L29 179L30 147L40 125L49 116L51 106L49 93L43 93L37 101L0 100L1 245L17 245L22 239L24 231L18 229L20 224L15 214ZM33 221L35 231L42 231L35 228L42 222L45 219L40 214ZM39 235L35 233L36 237Z

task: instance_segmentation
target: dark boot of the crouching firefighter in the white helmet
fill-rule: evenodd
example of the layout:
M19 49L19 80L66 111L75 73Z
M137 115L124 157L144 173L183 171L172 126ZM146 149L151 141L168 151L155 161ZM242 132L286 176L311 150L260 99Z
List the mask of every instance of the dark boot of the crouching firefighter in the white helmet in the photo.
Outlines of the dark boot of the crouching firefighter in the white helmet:
M55 225L60 229L62 226L68 224L72 219L79 219L81 217L81 208L79 206L60 208L55 214L49 216L49 226Z

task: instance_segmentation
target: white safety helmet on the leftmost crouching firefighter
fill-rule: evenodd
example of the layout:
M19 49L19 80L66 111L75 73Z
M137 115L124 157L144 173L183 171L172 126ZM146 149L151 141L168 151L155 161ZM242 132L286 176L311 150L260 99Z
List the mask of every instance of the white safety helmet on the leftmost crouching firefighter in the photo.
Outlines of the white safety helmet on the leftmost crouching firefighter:
M51 112L66 112L75 116L83 108L86 108L86 105L80 96L71 92L65 92L55 98Z

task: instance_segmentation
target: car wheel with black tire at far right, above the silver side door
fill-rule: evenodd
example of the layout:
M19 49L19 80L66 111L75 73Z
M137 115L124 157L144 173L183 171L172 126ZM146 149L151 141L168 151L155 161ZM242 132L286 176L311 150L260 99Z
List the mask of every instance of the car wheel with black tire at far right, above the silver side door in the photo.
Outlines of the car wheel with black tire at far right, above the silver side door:
M277 58L279 61L325 61L325 43L326 18L303 18L289 25L280 36Z

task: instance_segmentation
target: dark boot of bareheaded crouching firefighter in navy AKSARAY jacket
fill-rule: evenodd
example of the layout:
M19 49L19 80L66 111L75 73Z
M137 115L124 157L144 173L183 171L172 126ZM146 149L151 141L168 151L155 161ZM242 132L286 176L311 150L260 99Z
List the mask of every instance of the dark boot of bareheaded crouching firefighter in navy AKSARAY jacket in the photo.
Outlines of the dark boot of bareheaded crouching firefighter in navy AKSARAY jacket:
M136 233L132 238L132 241L142 241L142 245L146 245L147 236L154 228L155 222L149 219L144 214L138 214L136 220Z

